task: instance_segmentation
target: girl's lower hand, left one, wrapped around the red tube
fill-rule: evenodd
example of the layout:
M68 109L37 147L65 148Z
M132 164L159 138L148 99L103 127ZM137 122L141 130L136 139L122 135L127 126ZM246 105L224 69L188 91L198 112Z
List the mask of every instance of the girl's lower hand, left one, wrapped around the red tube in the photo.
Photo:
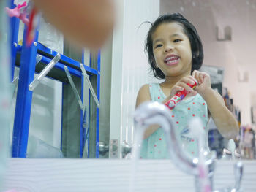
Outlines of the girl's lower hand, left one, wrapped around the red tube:
M187 83L194 84L194 81L195 78L191 75L182 77L181 80L179 80L170 90L170 98L172 98L178 91L184 91L184 89L189 92L190 96L195 96L197 94L197 91L187 85Z

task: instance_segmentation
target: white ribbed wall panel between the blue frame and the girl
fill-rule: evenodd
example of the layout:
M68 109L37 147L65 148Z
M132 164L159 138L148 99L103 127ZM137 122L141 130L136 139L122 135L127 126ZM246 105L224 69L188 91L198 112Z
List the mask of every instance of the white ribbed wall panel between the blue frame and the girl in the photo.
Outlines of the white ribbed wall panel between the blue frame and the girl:
M110 139L132 143L135 101L141 85L152 82L144 53L149 24L159 16L159 0L116 1L113 33ZM154 80L153 80L154 81Z

